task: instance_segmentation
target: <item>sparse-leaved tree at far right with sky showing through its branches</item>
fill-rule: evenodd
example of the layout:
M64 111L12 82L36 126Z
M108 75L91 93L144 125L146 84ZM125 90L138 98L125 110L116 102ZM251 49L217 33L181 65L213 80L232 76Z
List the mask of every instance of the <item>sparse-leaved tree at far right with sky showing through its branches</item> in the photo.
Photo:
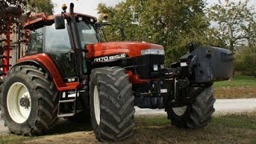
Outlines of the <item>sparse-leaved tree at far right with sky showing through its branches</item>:
M231 51L238 46L255 43L255 13L245 2L225 0L207 9L209 20L216 30L215 36L223 39Z

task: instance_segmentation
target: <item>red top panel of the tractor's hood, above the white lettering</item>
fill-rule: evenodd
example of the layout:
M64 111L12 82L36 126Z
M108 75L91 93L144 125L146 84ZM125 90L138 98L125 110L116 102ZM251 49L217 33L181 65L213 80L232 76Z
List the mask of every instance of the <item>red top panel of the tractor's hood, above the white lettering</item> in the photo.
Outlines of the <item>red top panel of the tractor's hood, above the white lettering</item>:
M141 56L142 51L149 49L153 49L157 54L164 54L162 46L147 42L103 42L87 45L86 58L99 58L117 54L126 54L126 57L134 58Z

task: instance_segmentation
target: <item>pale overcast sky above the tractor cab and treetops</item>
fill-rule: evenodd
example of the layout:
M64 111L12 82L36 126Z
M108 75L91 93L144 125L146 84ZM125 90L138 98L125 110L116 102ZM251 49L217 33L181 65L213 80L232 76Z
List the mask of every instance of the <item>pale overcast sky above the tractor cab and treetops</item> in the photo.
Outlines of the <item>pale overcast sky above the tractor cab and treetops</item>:
M234 1L238 1L238 0L234 0ZM90 14L98 17L98 14L97 14L98 3L103 2L109 6L114 6L118 2L122 2L122 0L53 0L53 2L55 5L55 8L54 8L55 14L58 14L61 12L62 10L61 7L63 3L66 3L69 6L70 2L74 2L75 12L82 13L82 14ZM208 2L209 5L211 5L214 2L218 2L218 0L206 0L206 2ZM250 6L256 7L256 1L250 0Z

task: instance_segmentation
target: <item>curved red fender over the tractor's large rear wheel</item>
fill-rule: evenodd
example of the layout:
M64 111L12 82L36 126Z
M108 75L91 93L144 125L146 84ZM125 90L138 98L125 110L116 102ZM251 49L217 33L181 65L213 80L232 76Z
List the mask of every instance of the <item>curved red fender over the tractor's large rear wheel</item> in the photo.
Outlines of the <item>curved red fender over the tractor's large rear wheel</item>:
M26 62L34 60L36 62L42 63L42 65L46 66L47 70L50 72L50 75L53 78L54 84L59 91L65 90L74 90L79 86L79 82L69 82L65 83L62 81L61 74L59 74L57 67L54 65L54 62L50 59L47 54L34 54L29 55L24 58L18 60L18 62Z

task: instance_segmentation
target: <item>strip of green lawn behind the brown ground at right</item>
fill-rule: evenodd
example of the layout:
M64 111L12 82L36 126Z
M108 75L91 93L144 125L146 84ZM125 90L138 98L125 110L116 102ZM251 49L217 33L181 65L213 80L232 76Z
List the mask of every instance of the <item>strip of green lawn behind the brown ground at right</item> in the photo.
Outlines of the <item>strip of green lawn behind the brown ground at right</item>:
M233 81L214 82L214 87L225 86L256 86L256 78L253 76L235 75Z

